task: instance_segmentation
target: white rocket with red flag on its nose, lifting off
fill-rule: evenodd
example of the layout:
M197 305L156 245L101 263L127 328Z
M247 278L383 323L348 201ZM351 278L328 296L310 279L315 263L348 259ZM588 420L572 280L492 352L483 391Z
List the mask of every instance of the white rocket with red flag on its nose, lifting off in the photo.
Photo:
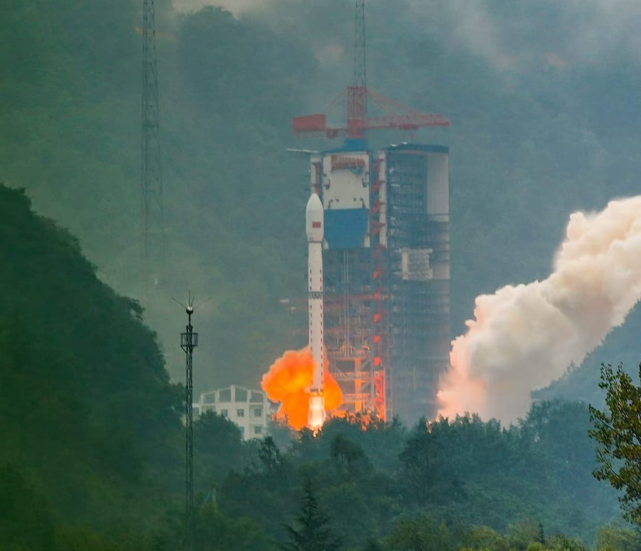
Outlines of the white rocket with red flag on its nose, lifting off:
M325 353L323 347L322 319L322 241L324 233L322 203L316 193L312 193L305 209L307 231L307 267L309 290L310 349L314 361L312 385L310 386L310 409L307 425L313 431L320 429L325 422L325 396L323 369Z

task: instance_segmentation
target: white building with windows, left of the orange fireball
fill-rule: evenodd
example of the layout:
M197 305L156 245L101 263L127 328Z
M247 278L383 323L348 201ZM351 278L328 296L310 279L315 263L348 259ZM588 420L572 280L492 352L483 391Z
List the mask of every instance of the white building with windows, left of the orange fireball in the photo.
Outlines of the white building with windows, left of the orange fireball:
M262 390L235 384L202 393L193 406L195 415L213 411L225 416L240 427L244 440L262 438L272 415L271 402Z

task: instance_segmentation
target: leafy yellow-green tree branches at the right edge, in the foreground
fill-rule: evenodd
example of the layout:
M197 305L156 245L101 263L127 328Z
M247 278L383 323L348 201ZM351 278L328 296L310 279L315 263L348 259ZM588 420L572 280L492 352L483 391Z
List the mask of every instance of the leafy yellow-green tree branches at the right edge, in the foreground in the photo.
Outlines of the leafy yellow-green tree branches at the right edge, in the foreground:
M641 375L641 365L639 366ZM594 428L590 437L597 443L594 476L623 491L624 516L641 525L641 386L619 365L601 365L600 388L606 391L606 411L590 406Z

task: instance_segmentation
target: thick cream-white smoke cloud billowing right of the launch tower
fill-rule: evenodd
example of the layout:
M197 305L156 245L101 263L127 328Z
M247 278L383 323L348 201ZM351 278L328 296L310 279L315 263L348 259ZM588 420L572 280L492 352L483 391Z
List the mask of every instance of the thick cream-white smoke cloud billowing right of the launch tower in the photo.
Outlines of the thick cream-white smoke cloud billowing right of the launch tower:
M452 343L439 413L517 420L530 391L580 364L640 297L641 196L573 213L553 274L477 297L475 319Z

